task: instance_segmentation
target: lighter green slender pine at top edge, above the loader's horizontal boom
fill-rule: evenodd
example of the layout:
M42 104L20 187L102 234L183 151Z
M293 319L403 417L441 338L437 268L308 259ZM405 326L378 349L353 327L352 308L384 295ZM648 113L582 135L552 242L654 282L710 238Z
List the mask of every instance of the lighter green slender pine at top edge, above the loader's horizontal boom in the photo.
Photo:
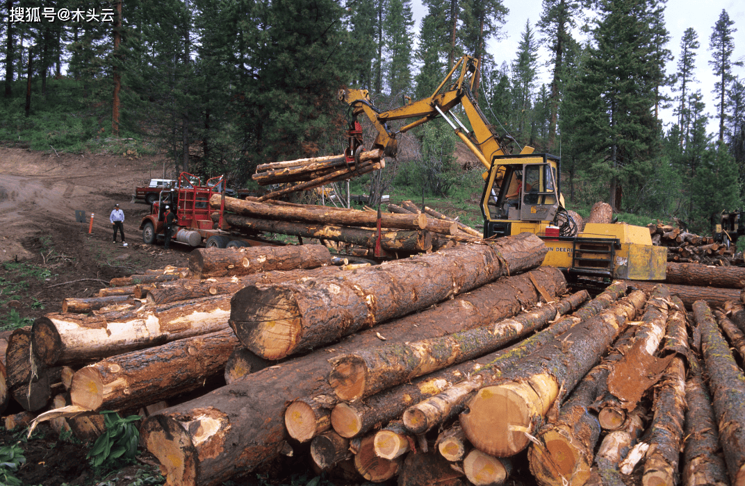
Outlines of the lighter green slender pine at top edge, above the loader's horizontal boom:
M384 20L386 74L390 95L399 96L411 86L411 1L387 0L387 4Z

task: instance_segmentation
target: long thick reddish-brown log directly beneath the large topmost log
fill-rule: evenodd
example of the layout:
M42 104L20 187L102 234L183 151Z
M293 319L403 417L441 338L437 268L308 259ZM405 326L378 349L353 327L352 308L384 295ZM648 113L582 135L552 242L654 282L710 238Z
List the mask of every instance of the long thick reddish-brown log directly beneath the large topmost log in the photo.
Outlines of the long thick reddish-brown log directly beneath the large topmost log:
M558 275L562 287L565 286L557 269L541 267L530 273L542 282L551 281L547 275ZM545 287L551 291L549 284ZM279 455L285 441L284 413L288 402L332 394L326 383L331 370L327 359L335 353L380 344L378 334L387 342L405 342L412 335L443 336L501 319L518 312L520 301L527 305L538 299L538 292L527 276L502 278L437 307L349 336L330 348L250 374L212 391L209 396L172 406L145 420L141 432L143 444L160 461L169 484L206 485L226 481ZM443 316L451 318L443 319ZM468 368L464 365L464 369ZM236 400L236 397L246 398ZM204 432L197 437L199 430ZM245 437L253 440L244 441ZM215 450L221 453L211 452Z

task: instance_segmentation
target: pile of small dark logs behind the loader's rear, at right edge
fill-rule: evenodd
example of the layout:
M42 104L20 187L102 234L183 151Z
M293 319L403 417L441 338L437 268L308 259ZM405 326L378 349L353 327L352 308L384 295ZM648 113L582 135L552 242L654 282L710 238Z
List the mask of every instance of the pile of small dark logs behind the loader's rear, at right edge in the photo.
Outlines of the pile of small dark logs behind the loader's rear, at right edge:
M670 224L647 225L652 244L668 248L668 261L679 263L700 262L706 265L731 265L734 262L734 245L717 242L714 237L689 233ZM741 262L740 262L741 263Z

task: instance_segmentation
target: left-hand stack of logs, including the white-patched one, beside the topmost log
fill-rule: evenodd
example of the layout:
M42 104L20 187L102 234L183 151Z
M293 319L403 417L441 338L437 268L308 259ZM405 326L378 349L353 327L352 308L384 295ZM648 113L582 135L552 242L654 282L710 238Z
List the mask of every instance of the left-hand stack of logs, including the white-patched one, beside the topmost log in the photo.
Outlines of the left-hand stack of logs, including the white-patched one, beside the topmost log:
M329 250L320 245L241 250L198 250L190 257L191 269L143 272L109 287L136 290L145 282L158 299L131 294L66 298L63 313L4 335L8 359L7 368L0 368L0 408L13 398L11 409L20 406L37 414L66 394L57 404L77 407L77 413L154 411L162 400L222 385L225 363L242 348L228 324L230 299L247 281L293 281L359 267L329 266ZM195 275L232 276L200 280ZM223 283L215 284L218 279ZM167 289L165 296L159 286ZM101 432L99 420L71 417L69 426L82 439L95 438ZM56 428L66 426L57 423Z

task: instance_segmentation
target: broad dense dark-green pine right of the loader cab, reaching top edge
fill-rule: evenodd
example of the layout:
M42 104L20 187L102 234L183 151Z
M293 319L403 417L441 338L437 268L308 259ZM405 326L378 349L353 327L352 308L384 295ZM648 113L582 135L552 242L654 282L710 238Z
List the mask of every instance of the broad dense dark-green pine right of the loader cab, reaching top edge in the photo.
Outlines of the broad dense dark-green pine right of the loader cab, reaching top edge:
M605 183L609 203L621 208L624 185L644 186L658 149L654 75L658 46L644 0L602 0L587 60L572 93L573 152Z

